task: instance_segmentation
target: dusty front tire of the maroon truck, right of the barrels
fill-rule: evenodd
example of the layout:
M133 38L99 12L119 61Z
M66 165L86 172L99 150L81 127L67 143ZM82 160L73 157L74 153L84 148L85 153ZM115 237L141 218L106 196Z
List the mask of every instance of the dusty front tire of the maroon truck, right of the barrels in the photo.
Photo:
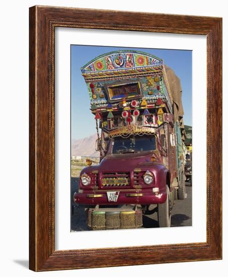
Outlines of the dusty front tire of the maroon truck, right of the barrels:
M164 203L157 205L157 220L159 227L170 227L171 215L170 215L170 193L169 188L166 185L167 198Z

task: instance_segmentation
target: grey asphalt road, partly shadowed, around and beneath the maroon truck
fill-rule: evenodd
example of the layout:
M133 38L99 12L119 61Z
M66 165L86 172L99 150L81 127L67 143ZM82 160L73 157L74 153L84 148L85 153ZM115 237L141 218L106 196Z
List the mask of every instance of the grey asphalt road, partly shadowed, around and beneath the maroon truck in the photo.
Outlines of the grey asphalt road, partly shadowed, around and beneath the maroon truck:
M72 199L74 191L78 187L78 178L72 178ZM186 183L187 198L185 200L175 200L175 205L172 211L171 227L177 226L192 226L192 187ZM85 222L85 206L79 205L74 208L74 214L71 220L72 231L89 231ZM157 222L157 209L156 206L150 206L150 211L143 215L142 228L156 228Z

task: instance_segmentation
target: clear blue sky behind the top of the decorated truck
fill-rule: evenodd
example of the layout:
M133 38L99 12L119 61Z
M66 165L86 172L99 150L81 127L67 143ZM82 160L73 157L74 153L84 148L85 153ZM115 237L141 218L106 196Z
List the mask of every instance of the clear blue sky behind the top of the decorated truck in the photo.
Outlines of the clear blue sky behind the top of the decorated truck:
M96 132L94 115L81 67L101 54L118 50L138 50L163 59L181 79L184 124L192 125L192 51L153 48L71 45L71 138L78 140Z

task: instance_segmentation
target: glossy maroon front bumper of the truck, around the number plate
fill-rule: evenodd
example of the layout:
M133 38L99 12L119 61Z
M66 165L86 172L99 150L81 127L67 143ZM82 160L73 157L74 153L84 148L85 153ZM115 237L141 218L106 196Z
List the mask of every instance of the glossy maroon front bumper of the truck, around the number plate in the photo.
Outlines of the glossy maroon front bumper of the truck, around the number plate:
M110 190L111 191L111 190ZM79 204L88 205L119 205L119 204L159 204L165 202L166 192L162 191L158 195L153 192L122 192L120 191L117 202L109 202L106 192L76 193L74 201Z

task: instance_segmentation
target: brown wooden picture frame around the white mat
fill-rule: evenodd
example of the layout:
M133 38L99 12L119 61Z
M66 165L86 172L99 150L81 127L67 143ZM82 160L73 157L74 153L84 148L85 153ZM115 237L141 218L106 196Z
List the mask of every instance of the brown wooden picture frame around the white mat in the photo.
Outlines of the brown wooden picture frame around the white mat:
M30 8L29 267L34 271L221 259L222 19L35 6ZM56 27L207 37L206 242L105 249L54 247L54 38ZM216 116L213 116L216 114ZM126 256L128 257L126 259Z

